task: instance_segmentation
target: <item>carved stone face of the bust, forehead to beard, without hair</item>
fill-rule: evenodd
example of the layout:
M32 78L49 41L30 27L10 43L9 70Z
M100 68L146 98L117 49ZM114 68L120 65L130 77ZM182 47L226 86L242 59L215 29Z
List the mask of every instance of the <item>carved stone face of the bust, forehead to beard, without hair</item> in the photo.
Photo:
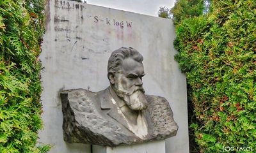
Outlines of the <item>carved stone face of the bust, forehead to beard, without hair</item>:
M145 110L147 100L142 87L145 75L143 64L132 58L124 59L122 68L115 73L113 90L132 110Z

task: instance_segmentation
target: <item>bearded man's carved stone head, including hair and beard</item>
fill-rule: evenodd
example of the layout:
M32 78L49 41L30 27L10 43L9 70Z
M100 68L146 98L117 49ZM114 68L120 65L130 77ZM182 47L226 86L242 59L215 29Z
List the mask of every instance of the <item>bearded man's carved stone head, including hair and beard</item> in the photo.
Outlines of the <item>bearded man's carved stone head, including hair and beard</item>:
M147 100L142 87L145 75L143 57L134 48L119 48L112 52L108 61L108 79L116 95L131 110L145 110Z

